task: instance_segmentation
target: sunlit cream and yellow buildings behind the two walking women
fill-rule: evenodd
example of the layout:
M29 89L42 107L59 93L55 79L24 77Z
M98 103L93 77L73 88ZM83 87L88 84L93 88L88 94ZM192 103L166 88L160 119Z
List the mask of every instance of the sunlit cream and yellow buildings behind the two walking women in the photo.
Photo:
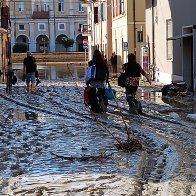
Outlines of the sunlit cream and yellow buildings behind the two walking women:
M112 52L118 56L118 69L127 61L129 52L140 61L140 51L145 44L145 1L99 0L82 1L87 7L89 57L95 48L100 49L110 60ZM142 36L138 40L138 34Z

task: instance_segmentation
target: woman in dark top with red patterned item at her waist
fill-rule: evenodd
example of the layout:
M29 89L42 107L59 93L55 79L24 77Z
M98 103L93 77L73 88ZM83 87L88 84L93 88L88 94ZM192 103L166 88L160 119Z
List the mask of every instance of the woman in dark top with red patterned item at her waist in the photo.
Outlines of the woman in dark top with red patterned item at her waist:
M147 73L142 69L141 65L136 62L136 56L133 53L128 54L128 63L125 63L122 69L125 71L125 75L127 76L125 82L125 93L129 104L129 112L142 113L141 104L135 98L139 86L139 80L141 75L145 76L150 84L151 80Z

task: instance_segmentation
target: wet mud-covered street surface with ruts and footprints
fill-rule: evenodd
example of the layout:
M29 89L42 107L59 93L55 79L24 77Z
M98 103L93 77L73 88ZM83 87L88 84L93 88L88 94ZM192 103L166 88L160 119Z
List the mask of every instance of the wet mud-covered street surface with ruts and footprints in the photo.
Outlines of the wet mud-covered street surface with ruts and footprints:
M0 195L196 195L196 123L185 118L194 101L157 103L143 95L159 87L143 84L144 115L131 115L123 89L111 84L119 107L110 100L96 118L83 104L82 78L42 80L35 94L20 80L10 94L1 84ZM119 150L100 126L125 142L120 110L143 150ZM172 119L173 111L181 119Z

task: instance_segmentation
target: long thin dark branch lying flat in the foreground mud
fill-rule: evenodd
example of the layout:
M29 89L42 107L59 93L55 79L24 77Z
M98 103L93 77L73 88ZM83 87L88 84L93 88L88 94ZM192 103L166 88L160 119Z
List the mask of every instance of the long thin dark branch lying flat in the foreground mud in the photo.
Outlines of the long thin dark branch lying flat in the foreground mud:
M62 158L62 159L66 159L66 160L69 160L69 161L102 161L103 159L107 159L109 156L111 155L106 155L105 152L99 154L99 155L83 155L81 157L73 157L73 156L70 156L70 157L66 157L66 156L63 156L63 155L58 155L56 153L53 153L51 152L52 155L55 155L56 157L58 158Z

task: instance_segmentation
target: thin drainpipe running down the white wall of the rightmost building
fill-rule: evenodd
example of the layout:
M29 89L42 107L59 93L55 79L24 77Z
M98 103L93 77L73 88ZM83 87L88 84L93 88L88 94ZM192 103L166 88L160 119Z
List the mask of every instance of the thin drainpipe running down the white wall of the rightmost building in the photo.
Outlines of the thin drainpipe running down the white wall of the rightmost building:
M152 0L152 80L155 81L156 67L155 67L155 25L154 25L154 0Z

